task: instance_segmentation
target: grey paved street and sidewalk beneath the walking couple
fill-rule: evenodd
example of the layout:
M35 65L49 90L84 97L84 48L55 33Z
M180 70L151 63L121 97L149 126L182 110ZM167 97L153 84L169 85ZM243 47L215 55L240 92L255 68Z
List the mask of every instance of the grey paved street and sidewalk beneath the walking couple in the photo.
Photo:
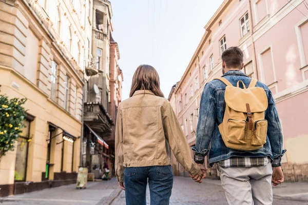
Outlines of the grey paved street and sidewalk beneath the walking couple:
M274 205L308 204L308 183L283 183L274 188ZM150 204L147 192L147 204ZM4 205L125 205L125 192L119 189L115 178L109 181L88 182L87 189L76 190L75 185L44 189L42 191L0 198ZM175 177L170 204L227 205L220 180L204 179L201 184L189 177ZM136 204L138 205L138 204Z

